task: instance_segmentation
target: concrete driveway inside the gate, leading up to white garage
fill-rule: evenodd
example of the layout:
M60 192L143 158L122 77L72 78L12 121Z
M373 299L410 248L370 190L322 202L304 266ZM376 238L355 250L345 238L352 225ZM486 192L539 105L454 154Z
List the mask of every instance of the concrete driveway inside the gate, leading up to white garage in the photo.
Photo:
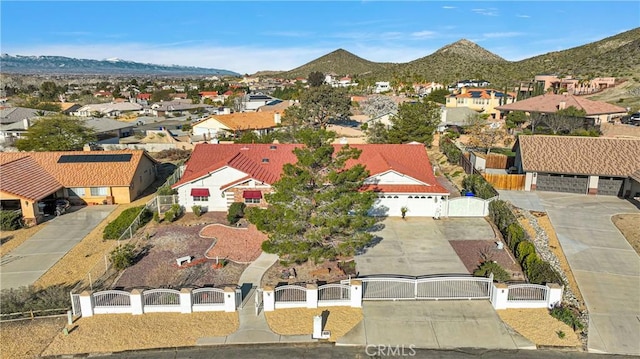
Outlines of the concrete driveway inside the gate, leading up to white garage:
M493 239L484 218L386 218L375 246L356 256L359 274L468 274L450 240Z

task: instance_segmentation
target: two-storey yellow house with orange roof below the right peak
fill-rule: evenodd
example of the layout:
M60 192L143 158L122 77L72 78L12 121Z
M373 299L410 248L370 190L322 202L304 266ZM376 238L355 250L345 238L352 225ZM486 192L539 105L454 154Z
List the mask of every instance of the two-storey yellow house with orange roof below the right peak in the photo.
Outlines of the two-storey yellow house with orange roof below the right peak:
M481 114L488 114L492 118L499 118L500 111L496 107L513 103L515 96L498 90L466 88L460 89L460 93L447 97L446 107L468 107Z

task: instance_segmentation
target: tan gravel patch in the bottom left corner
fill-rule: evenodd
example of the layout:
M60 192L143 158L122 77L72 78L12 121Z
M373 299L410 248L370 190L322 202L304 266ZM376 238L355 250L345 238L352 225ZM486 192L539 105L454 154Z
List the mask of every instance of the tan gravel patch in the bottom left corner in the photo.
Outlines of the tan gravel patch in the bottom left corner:
M0 325L0 357L38 358L66 324L66 316L3 322Z

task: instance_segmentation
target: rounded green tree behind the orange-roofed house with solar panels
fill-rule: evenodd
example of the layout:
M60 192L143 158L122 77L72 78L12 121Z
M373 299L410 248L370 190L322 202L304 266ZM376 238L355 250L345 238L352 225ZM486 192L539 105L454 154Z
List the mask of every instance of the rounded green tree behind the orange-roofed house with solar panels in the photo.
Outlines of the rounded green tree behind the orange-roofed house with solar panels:
M94 130L82 120L56 115L36 121L26 138L16 141L16 147L20 151L74 151L96 140Z

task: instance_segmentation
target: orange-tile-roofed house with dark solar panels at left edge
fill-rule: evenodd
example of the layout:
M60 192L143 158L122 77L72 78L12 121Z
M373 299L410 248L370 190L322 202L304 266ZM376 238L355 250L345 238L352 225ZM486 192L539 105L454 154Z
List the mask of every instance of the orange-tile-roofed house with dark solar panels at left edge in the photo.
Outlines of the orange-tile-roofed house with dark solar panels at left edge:
M156 165L142 150L0 152L2 208L19 208L36 224L47 214L46 202L56 198L130 203L155 181Z

